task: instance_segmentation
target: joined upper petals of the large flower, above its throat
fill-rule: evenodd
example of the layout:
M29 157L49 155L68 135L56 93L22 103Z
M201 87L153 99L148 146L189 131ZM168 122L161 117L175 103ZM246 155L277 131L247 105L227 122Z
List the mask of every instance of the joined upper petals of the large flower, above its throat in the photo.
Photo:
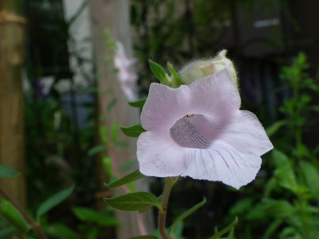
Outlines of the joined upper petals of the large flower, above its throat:
M152 83L141 122L149 131L168 132L187 114L208 115L224 122L239 107L238 90L225 69L178 89Z

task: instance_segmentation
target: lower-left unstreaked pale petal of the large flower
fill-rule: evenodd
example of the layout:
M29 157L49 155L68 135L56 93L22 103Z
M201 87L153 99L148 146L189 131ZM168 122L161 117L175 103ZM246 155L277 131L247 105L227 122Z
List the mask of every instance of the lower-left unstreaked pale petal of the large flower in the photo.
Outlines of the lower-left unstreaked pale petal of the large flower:
M147 176L172 177L186 170L187 148L180 147L169 136L144 132L138 139L137 156L141 173Z

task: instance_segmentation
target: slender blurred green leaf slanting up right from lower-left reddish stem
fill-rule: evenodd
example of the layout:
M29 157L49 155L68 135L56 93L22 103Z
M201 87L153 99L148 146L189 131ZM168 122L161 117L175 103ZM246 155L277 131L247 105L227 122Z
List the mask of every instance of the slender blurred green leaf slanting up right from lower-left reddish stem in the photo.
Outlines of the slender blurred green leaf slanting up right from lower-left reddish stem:
M64 199L69 197L71 193L73 192L74 186L71 186L69 188L66 188L57 194L53 195L52 197L45 200L40 207L38 208L36 212L36 217L39 218L43 214L47 213L50 209L61 203Z

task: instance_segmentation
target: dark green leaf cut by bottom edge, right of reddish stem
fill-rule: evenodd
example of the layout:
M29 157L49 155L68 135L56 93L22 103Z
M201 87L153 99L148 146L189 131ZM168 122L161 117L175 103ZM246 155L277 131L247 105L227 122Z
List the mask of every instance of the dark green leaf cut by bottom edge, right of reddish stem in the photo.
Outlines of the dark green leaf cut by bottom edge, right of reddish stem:
M41 228L46 235L52 238L79 239L79 235L75 231L60 223L50 224Z

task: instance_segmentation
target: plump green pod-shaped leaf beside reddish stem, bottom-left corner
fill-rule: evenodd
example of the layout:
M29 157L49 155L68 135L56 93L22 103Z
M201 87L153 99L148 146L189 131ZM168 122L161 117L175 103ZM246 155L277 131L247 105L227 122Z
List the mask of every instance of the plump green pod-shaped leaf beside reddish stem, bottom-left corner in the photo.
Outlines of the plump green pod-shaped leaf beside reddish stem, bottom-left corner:
M4 198L0 198L0 217L19 232L26 233L30 229L21 213Z

